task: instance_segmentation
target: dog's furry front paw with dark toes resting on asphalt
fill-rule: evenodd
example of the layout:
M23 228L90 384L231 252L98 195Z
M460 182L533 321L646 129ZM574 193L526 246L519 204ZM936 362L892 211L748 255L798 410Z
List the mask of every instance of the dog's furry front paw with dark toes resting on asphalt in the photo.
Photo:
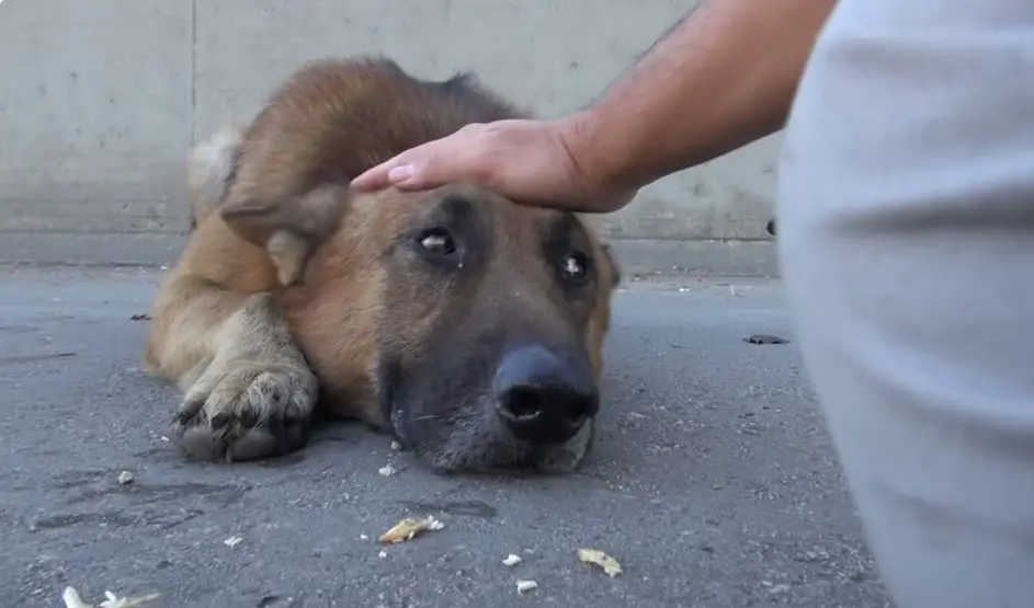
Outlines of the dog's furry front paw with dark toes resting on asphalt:
M170 438L193 458L227 462L300 449L309 440L316 379L284 367L209 370L188 391Z

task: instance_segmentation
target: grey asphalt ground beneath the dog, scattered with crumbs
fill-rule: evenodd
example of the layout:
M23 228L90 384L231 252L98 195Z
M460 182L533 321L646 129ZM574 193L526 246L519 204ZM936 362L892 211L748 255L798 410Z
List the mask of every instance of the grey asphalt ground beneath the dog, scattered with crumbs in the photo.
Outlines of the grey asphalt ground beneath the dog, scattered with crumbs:
M435 475L350 424L279 460L185 461L133 318L158 271L0 276L2 606L59 607L67 585L155 608L889 606L777 282L627 282L589 459L503 479ZM444 528L376 542L410 515Z

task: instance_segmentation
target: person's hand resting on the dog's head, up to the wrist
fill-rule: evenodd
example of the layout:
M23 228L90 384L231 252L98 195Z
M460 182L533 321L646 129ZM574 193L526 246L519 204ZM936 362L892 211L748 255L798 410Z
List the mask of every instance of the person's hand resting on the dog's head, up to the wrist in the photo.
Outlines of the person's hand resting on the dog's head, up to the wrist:
M352 186L414 191L470 182L532 206L582 213L624 207L635 191L614 191L592 174L578 131L572 118L471 124L370 169Z

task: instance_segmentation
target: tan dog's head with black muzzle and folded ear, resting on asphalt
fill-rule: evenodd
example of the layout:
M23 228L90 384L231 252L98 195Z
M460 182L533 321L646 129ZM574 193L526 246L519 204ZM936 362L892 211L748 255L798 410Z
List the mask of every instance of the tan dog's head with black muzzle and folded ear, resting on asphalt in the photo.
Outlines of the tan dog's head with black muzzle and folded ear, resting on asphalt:
M285 311L333 408L440 470L578 464L618 282L586 218L471 185L331 186L284 209L223 217L299 277Z

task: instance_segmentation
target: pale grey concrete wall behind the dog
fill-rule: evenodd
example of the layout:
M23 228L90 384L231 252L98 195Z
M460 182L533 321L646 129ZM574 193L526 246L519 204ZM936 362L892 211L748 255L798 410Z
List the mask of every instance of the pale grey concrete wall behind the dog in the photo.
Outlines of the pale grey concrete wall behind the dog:
M191 142L326 56L473 69L544 116L591 101L689 0L3 0L0 260L166 263ZM775 140L606 218L633 272L774 272Z

